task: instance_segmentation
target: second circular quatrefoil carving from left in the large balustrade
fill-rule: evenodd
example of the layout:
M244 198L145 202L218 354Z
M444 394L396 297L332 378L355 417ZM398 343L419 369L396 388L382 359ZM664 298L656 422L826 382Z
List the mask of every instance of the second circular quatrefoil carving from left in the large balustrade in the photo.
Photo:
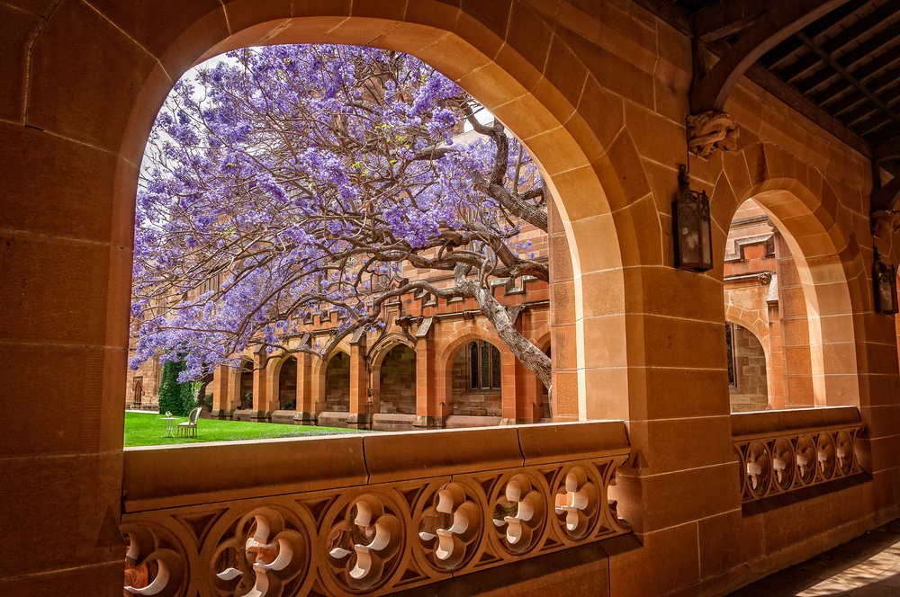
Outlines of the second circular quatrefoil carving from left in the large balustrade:
M292 512L264 507L247 512L212 553L213 592L225 597L282 597L296 593L310 562L310 538Z

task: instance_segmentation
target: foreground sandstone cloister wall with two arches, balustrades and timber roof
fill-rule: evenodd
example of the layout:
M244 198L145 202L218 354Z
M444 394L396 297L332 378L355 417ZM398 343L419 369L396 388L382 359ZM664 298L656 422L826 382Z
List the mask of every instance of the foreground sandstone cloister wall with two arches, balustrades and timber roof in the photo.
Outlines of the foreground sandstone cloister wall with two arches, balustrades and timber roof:
M718 595L896 518L897 329L876 310L873 267L876 249L900 262L885 213L900 182L895 121L867 103L894 101L886 6L0 4L0 347L17 364L0 379L0 514L45 546L4 557L0 594L120 595L127 561L157 594L192 597ZM204 58L314 41L422 58L541 165L558 207L550 254L569 256L547 289L554 423L123 450L133 206L152 120ZM835 65L868 91L842 86ZM740 135L698 137L691 120L689 138L686 117L707 111ZM710 199L708 272L672 265L685 162ZM780 280L778 244L753 259L774 258L779 293L802 291L806 307L804 335L779 301L769 361L778 348L810 357L794 370L788 354L786 408L732 414L725 325L739 314L726 315L719 256L748 199L797 272ZM64 399L43 407L48 396ZM808 397L815 408L788 408ZM263 546L257 566L234 557L247 539Z

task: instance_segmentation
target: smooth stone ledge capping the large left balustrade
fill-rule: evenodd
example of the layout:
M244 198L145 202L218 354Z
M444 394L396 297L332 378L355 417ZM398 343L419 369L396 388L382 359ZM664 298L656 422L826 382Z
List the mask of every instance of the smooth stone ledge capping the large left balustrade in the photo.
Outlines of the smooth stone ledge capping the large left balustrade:
M589 421L127 448L125 512L625 456Z

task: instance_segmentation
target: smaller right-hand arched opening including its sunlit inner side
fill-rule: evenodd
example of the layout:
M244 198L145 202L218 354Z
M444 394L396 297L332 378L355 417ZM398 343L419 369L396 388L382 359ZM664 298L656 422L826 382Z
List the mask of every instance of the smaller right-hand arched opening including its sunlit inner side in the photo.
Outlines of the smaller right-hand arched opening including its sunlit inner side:
M823 194L833 194L822 184ZM860 388L851 379L858 246L838 233L827 211L814 212L818 199L796 181L768 181L745 197L726 238L725 319L743 325L766 356L765 408L858 405ZM731 396L742 395L733 388ZM761 405L759 397L751 401ZM732 404L733 411L745 408Z

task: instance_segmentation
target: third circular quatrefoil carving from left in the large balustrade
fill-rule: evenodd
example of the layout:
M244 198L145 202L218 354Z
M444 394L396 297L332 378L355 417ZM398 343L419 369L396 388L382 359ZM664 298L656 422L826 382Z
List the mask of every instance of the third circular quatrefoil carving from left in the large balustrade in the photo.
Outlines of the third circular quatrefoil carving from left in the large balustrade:
M378 495L347 503L326 540L332 578L350 591L372 590L393 573L403 550L400 512Z

